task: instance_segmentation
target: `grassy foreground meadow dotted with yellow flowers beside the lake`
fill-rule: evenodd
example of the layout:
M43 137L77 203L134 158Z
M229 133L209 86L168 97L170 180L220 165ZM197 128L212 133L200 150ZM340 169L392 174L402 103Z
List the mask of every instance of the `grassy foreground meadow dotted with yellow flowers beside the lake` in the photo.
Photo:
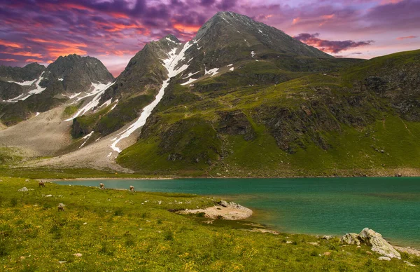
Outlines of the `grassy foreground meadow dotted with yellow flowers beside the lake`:
M206 224L169 211L216 198L0 179L2 271L416 271L403 261L420 264L408 254L379 261L368 247L337 239L250 232L261 226ZM29 191L19 192L23 186Z

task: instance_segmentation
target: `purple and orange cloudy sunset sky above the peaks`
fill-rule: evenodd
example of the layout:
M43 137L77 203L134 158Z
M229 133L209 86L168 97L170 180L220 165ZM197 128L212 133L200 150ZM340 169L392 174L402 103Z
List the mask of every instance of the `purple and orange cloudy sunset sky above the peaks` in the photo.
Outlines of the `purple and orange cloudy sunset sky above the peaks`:
M149 41L189 41L218 11L283 30L336 57L420 48L420 0L0 0L0 64L90 55L118 76Z

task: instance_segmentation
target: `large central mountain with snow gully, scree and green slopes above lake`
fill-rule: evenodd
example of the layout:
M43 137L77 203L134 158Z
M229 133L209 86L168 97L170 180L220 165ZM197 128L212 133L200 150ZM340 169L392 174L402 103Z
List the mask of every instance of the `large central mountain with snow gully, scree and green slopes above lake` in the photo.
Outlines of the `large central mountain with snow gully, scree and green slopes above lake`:
M55 104L31 95L0 109L45 109L0 131L7 147L53 156L29 165L216 177L420 169L420 50L335 58L223 12L187 43L169 35L146 44L115 81L102 64L82 59L59 58L43 72L38 95L52 89ZM47 136L36 122L48 124L51 148L41 149ZM22 140L28 128L41 136Z

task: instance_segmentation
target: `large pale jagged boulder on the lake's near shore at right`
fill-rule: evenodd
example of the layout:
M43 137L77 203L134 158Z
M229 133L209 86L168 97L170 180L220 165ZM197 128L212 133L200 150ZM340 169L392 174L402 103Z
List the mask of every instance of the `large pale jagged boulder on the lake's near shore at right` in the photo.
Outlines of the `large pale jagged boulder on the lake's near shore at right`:
M372 251L377 252L382 256L401 259L400 252L395 250L395 248L381 236L381 233L377 233L369 228L363 229L359 234L346 233L340 240L342 243L351 245L360 245L360 243L364 243L365 245L372 247Z

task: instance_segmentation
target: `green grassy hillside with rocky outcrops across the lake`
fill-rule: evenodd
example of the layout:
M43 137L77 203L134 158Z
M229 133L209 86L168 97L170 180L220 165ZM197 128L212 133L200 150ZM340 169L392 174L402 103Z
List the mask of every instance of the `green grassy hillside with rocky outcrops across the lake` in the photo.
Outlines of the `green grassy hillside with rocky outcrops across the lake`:
M190 87L172 80L118 163L144 174L241 177L420 168L419 58L420 50L397 53L328 73L261 60Z

